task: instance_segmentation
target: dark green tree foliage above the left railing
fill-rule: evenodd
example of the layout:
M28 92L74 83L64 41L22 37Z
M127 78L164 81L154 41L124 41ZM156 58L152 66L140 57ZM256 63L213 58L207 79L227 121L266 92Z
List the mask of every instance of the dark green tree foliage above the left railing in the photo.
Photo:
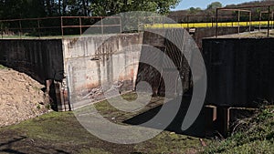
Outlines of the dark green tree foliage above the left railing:
M0 0L0 18L115 15L127 11L167 14L180 0Z

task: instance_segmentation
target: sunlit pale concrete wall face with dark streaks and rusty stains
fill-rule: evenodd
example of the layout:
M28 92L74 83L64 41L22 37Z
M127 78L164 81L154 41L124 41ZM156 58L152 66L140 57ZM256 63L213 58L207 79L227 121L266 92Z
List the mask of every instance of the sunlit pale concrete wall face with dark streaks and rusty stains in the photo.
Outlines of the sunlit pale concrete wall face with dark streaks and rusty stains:
M109 88L120 93L132 90L141 53L141 46L137 45L141 44L142 34L64 38L66 87L71 108L103 99L103 92Z

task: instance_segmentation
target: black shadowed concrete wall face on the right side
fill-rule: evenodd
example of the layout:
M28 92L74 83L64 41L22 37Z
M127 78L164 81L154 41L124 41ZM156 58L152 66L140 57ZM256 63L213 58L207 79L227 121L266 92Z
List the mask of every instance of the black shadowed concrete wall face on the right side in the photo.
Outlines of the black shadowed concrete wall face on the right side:
M274 38L209 38L203 40L208 78L206 103L256 106L274 100Z

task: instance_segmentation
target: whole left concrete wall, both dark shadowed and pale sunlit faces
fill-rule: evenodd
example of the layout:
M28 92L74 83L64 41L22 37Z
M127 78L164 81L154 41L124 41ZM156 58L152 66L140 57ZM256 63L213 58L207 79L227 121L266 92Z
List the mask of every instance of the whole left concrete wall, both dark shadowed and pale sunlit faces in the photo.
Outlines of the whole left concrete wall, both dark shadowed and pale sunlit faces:
M25 72L45 85L50 83L47 87L52 87L49 93L58 102L58 109L69 110L103 99L102 85L117 88L120 93L132 90L141 53L138 44L142 45L142 33L2 39L0 64ZM69 107L69 101L79 104Z

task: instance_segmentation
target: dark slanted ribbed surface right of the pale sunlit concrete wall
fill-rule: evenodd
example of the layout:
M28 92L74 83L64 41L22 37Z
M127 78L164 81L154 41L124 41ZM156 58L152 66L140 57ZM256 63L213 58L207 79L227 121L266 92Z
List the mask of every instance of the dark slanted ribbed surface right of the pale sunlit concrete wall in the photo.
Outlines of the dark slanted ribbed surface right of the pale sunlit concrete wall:
M183 29L153 29L148 32L144 32L143 34L143 45L141 52L141 61L145 61L143 59L147 59L146 52L149 52L153 46L159 50L161 50L166 57L169 57L174 62L174 67L176 70L172 70L171 65L164 61L164 58L161 57L157 52L152 52L153 56L150 56L150 59L147 61L152 61L153 64L161 67L161 70L156 70L154 66L150 66L148 64L140 63L138 68L138 76L137 83L140 81L148 82L152 89L153 95L169 95L166 94L167 91L169 93L173 93L171 95L175 95L179 93L182 89L177 89L178 80L182 80L182 87L184 87L184 91L187 91L190 85L190 68L187 60L182 54L184 50L189 50L191 52L191 46L186 45L186 42L191 42L192 37L184 37L184 33L187 33ZM163 36L160 36L162 34ZM165 36L170 35L173 36L174 40L168 40ZM182 36L179 36L182 35ZM174 46L172 41L180 41L178 43L179 46ZM169 80L163 81L163 74L166 74ZM162 76L161 76L162 74ZM169 84L173 89L166 89L165 84Z

